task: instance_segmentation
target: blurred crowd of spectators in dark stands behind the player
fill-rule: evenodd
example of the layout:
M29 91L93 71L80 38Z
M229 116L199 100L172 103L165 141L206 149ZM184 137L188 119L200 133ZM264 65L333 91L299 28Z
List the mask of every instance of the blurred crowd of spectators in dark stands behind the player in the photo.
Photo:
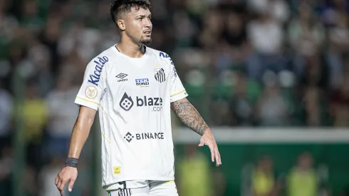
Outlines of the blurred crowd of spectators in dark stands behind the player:
M43 156L66 157L86 64L118 42L109 4L0 1L1 166L11 164L4 144L19 71L32 195L40 180L55 189L53 166L62 162L42 167ZM348 11L346 0L152 0L150 47L170 54L209 125L347 127Z

